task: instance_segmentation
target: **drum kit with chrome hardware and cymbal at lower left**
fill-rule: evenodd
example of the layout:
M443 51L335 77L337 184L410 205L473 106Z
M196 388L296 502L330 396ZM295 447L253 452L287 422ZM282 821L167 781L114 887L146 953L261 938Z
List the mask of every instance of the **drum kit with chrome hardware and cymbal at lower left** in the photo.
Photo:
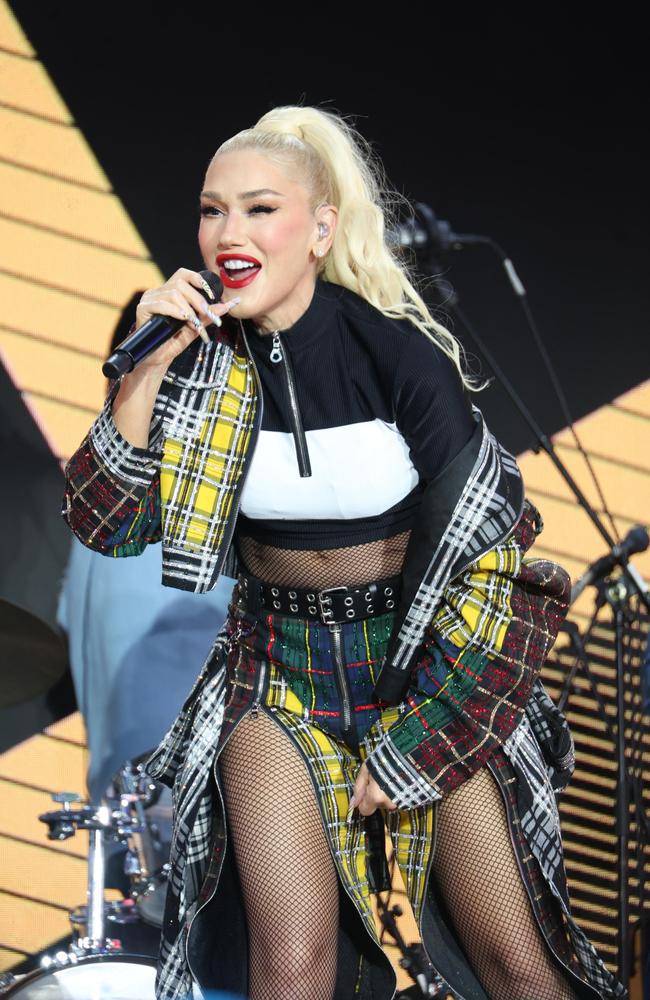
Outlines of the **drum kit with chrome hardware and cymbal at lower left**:
M33 616L0 600L3 649L3 705L14 705L47 690L67 667L60 639L39 623L39 656L25 640ZM5 649L6 651L6 649ZM39 676L32 669L39 664ZM9 667L11 665L11 667ZM10 674L7 674L10 669ZM41 967L24 976L0 974L2 1000L154 1000L156 955L165 905L172 809L169 790L144 770L148 755L127 761L99 806L74 793L52 796L59 808L39 819L50 840L88 832L86 901L69 914L72 940L67 951L46 955ZM105 900L107 859L123 856L128 889L118 902Z

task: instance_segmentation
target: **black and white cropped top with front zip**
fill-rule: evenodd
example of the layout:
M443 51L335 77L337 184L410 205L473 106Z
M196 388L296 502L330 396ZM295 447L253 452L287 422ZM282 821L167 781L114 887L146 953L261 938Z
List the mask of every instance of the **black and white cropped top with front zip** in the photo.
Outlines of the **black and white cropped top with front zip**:
M454 364L408 320L317 280L279 335L244 330L263 415L237 533L279 548L389 538L474 430Z

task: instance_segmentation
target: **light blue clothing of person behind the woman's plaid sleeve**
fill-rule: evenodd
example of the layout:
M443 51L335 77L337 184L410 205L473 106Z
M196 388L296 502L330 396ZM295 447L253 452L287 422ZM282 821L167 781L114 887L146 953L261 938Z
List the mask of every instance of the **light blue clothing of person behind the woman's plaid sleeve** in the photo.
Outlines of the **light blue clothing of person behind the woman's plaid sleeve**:
M107 559L73 538L57 618L68 634L98 802L126 760L162 739L226 618L234 581L209 594L163 587L162 553Z

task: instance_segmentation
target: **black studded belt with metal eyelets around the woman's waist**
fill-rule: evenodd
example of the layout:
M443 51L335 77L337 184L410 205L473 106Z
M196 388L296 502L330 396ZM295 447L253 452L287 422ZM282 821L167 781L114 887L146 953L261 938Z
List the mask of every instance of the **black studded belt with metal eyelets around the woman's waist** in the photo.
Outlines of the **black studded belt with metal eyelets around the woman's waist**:
M260 611L311 618L325 625L376 618L397 605L400 576L366 583L361 587L326 587L324 590L279 587L256 576L240 573L238 604L252 614Z

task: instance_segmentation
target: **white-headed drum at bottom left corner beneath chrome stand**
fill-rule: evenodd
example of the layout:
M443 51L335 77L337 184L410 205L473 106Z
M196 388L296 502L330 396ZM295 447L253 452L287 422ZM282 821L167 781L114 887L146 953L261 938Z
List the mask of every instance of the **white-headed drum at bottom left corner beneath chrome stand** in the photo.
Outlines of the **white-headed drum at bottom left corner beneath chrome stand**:
M156 1000L156 962L142 955L89 955L63 969L38 969L2 1000Z

